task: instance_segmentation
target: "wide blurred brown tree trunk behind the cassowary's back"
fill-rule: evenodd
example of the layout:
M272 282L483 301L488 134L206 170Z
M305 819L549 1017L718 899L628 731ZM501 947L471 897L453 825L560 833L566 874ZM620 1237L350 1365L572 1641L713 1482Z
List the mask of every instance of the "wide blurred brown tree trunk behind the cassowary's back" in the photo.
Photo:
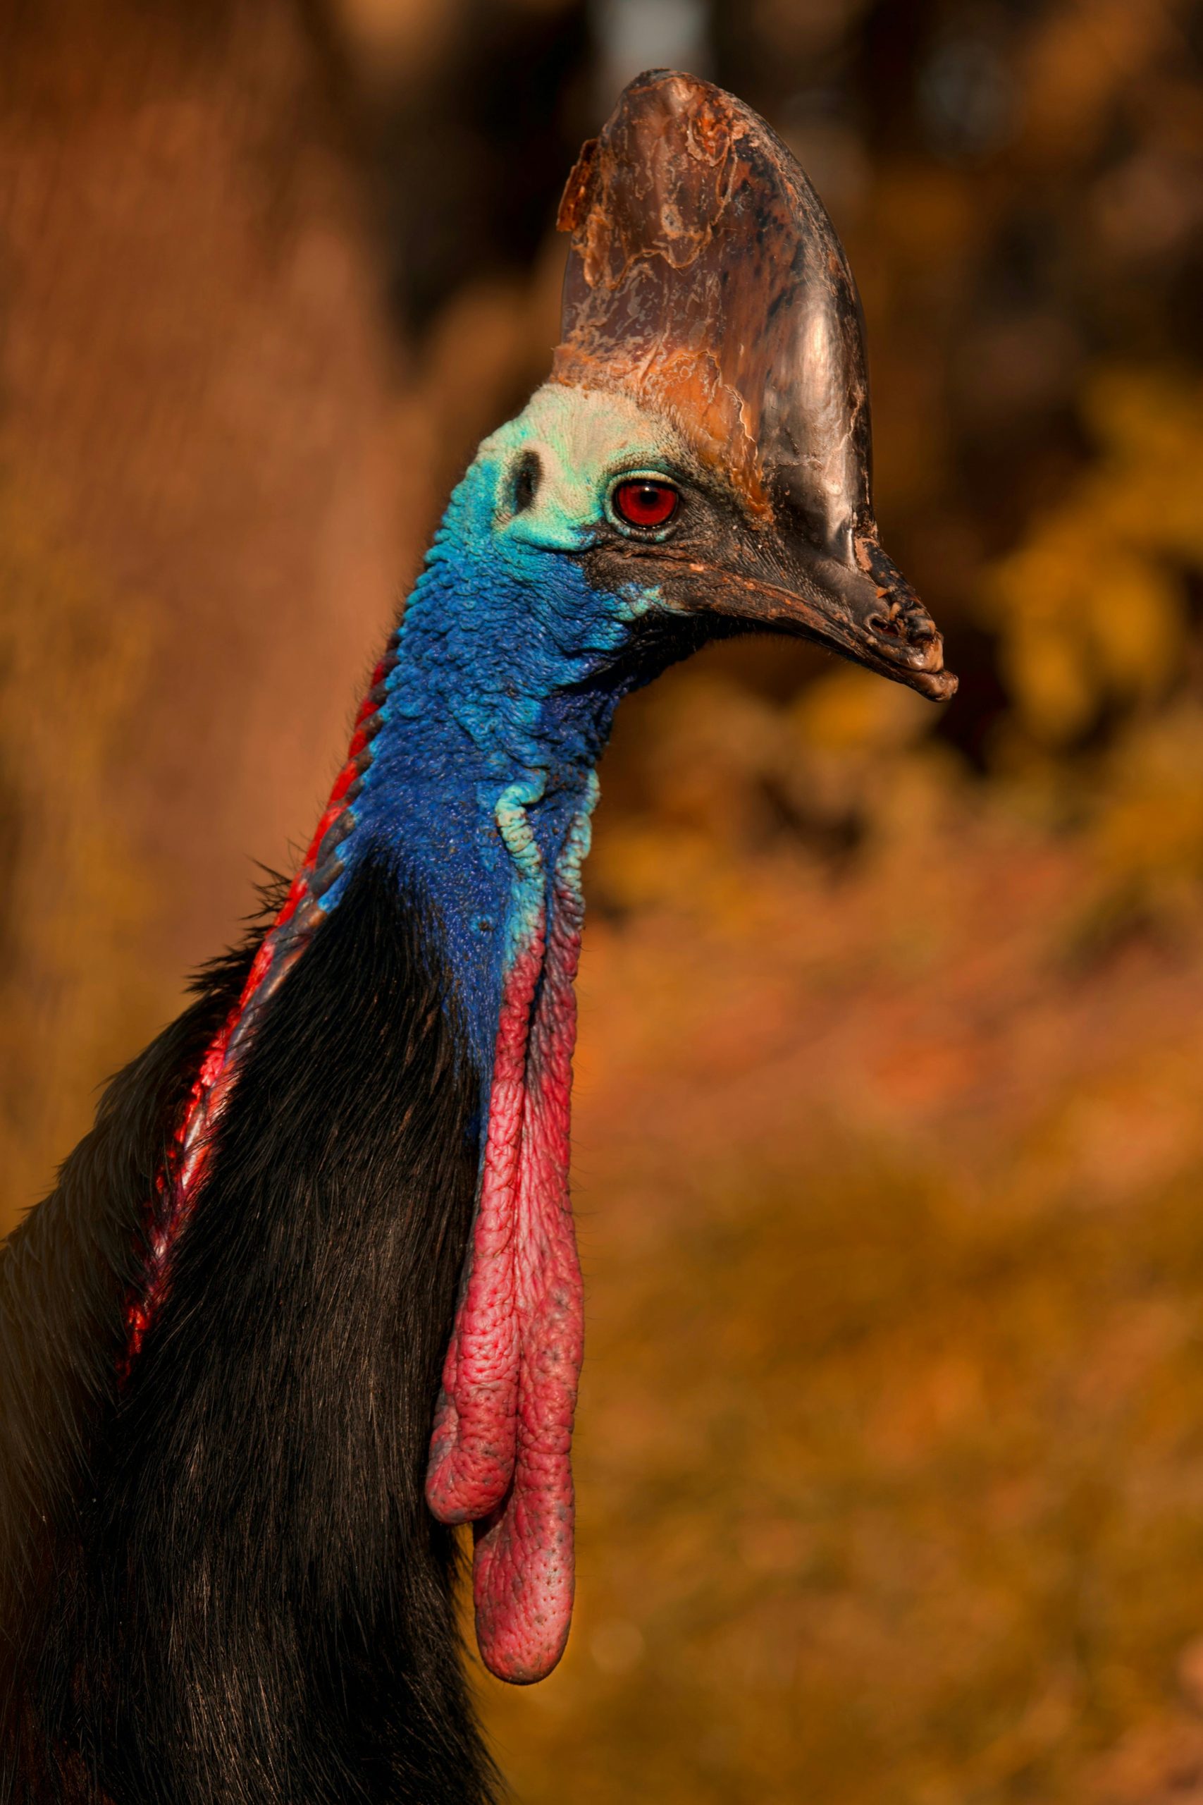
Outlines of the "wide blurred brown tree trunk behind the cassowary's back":
M0 1227L236 931L400 567L373 251L285 0L0 23Z

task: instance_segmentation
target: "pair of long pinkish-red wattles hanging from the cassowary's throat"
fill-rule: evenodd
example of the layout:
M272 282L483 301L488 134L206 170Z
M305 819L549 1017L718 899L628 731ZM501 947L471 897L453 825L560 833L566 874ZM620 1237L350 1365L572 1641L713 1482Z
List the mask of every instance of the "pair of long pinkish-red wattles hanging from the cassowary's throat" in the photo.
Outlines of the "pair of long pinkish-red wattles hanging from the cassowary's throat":
M476 1641L485 1666L514 1682L550 1673L572 1619L584 1314L568 1200L574 879L556 886L550 937L539 919L505 982L480 1204L426 1486L435 1516L476 1523Z

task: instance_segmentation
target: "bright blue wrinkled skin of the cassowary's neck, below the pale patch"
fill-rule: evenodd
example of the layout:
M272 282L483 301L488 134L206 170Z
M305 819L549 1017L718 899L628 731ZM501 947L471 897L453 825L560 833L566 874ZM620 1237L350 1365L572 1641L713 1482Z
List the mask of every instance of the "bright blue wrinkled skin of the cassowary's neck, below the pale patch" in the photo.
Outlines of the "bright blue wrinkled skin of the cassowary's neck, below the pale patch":
M637 612L575 560L492 531L498 469L455 491L406 605L372 762L339 848L337 906L366 854L433 906L471 1052L492 1069L501 984L550 883L575 881L593 769L620 697Z

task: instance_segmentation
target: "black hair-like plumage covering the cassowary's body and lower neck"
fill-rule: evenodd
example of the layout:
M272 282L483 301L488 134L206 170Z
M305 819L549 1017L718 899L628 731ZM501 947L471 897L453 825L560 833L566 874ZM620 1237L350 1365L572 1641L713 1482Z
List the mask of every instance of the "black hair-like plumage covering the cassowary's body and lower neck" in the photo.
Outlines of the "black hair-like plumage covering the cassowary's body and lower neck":
M478 1087L390 870L256 1025L117 1388L153 1175L251 953L114 1081L0 1260L4 1796L487 1805L422 1498Z

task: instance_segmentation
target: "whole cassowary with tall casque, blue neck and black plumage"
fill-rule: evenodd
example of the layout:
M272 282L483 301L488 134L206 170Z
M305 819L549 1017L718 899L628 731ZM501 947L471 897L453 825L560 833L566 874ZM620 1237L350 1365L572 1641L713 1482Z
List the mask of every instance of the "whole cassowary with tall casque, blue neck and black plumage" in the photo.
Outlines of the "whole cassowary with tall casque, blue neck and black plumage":
M455 491L274 919L0 1265L0 1760L23 1805L496 1796L465 1693L572 1610L581 861L619 700L752 628L929 697L860 310L765 123L624 92L548 383Z

